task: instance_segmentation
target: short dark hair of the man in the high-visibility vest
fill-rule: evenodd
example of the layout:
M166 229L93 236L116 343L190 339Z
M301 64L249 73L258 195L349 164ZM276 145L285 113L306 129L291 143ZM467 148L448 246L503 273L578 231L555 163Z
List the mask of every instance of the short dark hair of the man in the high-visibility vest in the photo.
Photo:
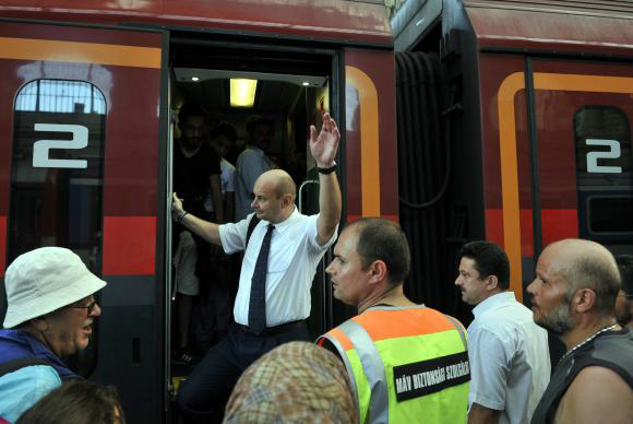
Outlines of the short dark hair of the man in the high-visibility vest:
M348 224L345 229L351 227L358 231L356 251L361 258L362 268L382 260L386 264L390 283L404 283L409 276L411 254L401 226L380 217L363 217Z

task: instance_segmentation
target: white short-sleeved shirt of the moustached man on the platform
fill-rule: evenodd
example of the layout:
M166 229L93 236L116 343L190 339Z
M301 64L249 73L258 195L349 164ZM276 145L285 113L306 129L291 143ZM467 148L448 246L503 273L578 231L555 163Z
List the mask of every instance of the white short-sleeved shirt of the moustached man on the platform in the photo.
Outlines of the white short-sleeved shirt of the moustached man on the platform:
M550 379L547 331L513 292L486 298L473 314L468 408L502 411L499 424L528 424Z

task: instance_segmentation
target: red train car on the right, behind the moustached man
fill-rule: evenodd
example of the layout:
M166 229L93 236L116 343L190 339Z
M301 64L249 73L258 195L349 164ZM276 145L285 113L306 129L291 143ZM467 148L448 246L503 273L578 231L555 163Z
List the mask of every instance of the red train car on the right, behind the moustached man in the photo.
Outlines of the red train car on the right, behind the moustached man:
M449 286L467 239L504 246L511 287L525 302L551 242L589 238L633 252L633 1L409 0L392 23L396 50L406 51L397 54L401 222L419 239L416 232L437 232L414 244L415 256L441 252L438 270L417 270L419 298L470 319ZM405 123L428 113L404 107L406 95L431 81L414 81L409 57L435 63L445 85L435 122L445 138L406 136ZM429 151L416 155L418 144ZM409 186L421 180L425 155L441 162L420 195ZM422 208L444 175L441 200ZM427 226L414 225L420 220Z

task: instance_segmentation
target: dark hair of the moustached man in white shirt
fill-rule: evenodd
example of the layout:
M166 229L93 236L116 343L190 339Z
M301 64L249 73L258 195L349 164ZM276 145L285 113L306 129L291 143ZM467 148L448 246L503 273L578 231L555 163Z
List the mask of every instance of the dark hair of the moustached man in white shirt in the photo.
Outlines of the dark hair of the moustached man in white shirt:
M479 272L479 279L497 275L500 290L510 287L510 260L505 251L491 242L470 242L465 244L459 251L462 258L473 259L475 269Z

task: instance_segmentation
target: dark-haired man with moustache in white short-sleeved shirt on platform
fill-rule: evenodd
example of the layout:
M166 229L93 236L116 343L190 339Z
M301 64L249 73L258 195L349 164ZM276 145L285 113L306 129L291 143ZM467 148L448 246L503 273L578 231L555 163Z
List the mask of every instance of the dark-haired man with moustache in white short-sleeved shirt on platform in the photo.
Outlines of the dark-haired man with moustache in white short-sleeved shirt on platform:
M548 335L509 291L505 251L490 242L466 244L455 285L475 306L468 424L528 423L550 377Z

